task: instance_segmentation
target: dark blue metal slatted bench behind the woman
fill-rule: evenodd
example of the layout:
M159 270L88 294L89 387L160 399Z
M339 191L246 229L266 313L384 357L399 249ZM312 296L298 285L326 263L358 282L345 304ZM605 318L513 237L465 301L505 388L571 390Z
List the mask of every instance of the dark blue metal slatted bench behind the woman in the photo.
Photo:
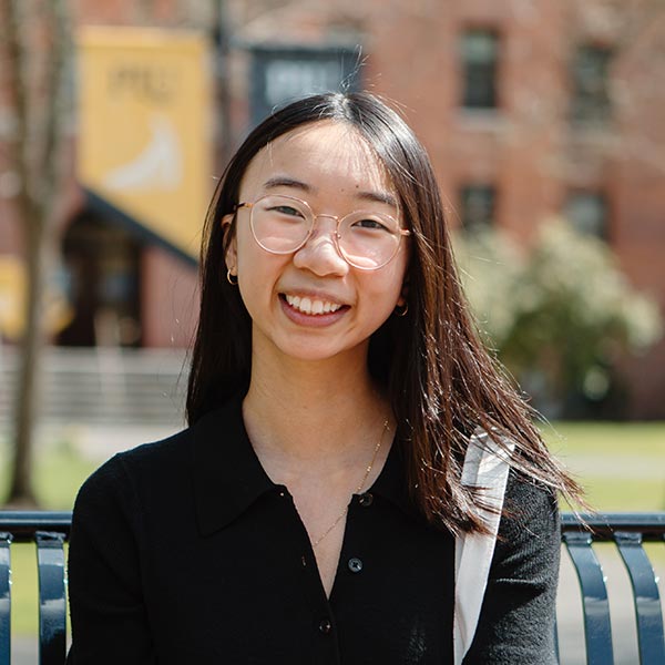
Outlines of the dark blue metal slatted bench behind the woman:
M69 512L0 511L0 665L10 665L10 552L12 543L37 545L39 581L39 665L62 665L65 657L65 554ZM657 580L643 544L665 544L665 513L595 514L583 525L562 515L562 540L580 581L586 662L613 665L612 624L606 580L593 543L614 543L632 585L640 663L665 664L663 610ZM591 529L591 531L590 531ZM616 636L615 636L616 638ZM560 640L557 642L561 641ZM563 665L563 664L562 664Z

